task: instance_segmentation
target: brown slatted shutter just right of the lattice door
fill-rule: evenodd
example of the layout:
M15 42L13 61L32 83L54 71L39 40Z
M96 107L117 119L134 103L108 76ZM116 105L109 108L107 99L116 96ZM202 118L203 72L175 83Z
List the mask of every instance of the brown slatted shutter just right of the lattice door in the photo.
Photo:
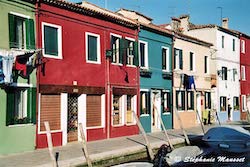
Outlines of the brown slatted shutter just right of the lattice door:
M87 95L87 127L101 126L101 95Z

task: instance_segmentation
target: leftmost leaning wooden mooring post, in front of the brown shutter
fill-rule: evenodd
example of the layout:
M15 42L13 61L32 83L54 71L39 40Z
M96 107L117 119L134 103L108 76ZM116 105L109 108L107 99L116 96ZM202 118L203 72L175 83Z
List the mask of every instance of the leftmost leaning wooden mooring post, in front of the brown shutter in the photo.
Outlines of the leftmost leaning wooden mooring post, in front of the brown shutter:
M50 155L50 159L52 161L52 166L57 167L56 158L55 158L54 153L53 153L53 144L52 144L49 122L45 121L44 126L46 129L47 143L48 143L48 147L49 147L49 155Z

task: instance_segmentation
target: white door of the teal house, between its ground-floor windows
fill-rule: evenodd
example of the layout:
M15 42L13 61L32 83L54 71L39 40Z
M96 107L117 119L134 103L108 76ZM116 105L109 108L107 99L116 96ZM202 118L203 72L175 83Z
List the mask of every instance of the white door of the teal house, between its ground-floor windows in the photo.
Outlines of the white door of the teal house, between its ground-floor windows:
M160 131L161 125L158 116L161 117L161 91L152 91L152 132Z

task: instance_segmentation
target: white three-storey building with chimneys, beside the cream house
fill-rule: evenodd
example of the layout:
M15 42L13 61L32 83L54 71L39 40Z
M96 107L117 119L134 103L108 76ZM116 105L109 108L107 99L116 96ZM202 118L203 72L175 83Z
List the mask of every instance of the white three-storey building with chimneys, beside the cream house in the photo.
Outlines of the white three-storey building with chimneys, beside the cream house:
M187 19L182 20L184 23ZM240 120L240 39L239 34L228 29L228 19L223 19L222 27L217 25L188 25L183 28L185 34L210 42L214 45L212 55L216 74L216 85L212 85L214 94L212 106L218 112L220 122ZM231 109L230 109L231 108Z

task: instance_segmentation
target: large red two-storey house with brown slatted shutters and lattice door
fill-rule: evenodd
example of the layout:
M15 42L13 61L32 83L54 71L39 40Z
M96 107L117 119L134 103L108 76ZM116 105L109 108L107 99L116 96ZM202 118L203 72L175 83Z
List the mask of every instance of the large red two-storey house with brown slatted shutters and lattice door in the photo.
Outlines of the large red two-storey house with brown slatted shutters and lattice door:
M47 147L44 122L54 145L138 133L138 26L84 2L40 0L37 47L37 148Z

